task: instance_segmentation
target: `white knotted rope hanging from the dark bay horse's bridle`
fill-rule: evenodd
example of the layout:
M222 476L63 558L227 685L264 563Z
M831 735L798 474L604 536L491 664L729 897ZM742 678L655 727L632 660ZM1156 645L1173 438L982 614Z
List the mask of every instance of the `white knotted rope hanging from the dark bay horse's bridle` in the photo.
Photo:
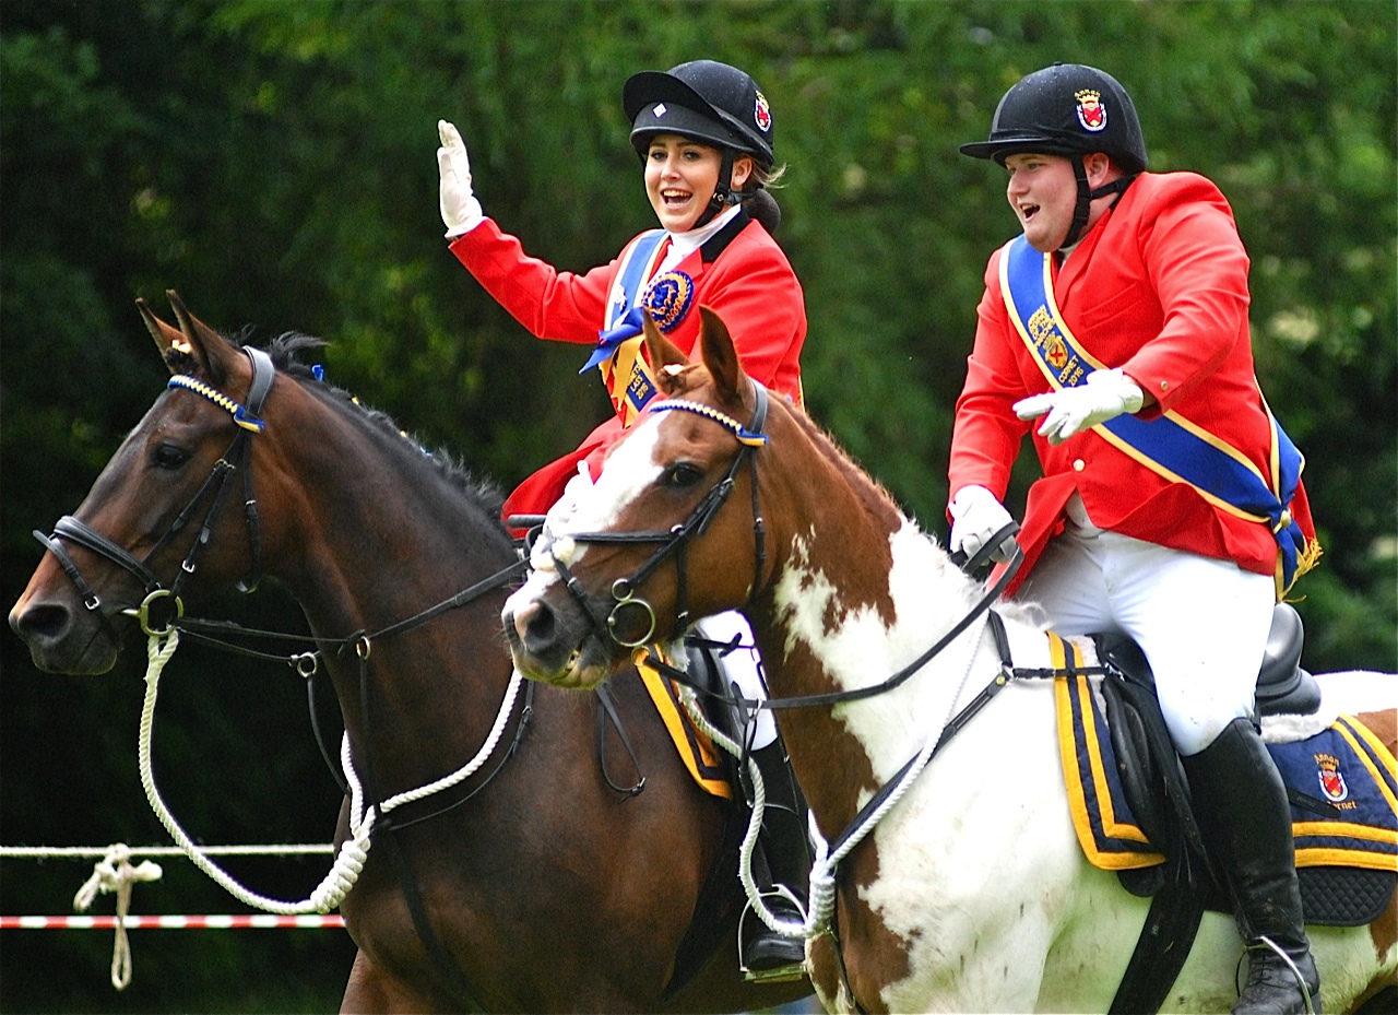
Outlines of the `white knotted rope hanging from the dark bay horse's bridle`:
M151 734L155 724L155 699L158 695L161 671L165 668L165 664L169 663L178 646L179 631L171 629L164 635L151 635L145 649L148 665L145 671L145 702L141 707L138 745L138 766L141 772L141 786L145 790L145 798L150 801L155 816L159 818L161 823L165 826L165 830L171 833L171 837L175 839L180 850L193 861L196 867L218 882L219 886L222 886L239 902L253 906L254 909L261 909L267 913L280 914L329 913L331 909L336 909L359 879L359 872L363 870L365 860L369 856L370 835L377 815L387 814L396 807L411 804L417 800L424 800L447 790L474 775L477 769L485 763L491 754L493 754L496 745L499 744L499 740L505 733L505 726L509 721L510 712L514 707L514 699L519 695L520 685L523 684L523 677L519 671L516 671L510 677L510 684L505 691L505 699L500 703L500 710L495 717L491 734L481 745L475 758L452 775L445 776L435 783L390 797L377 808L365 807L363 789L350 758L350 734L345 733L340 742L340 765L344 769L345 783L350 786L350 837L340 846L340 851L336 854L330 871L309 898L302 899L301 902L282 902L280 899L270 899L252 892L240 885L222 867L215 864L210 858L214 850L194 844L194 842L185 833L185 829L180 828L179 822L175 821L175 816L161 798L159 790L155 789L155 776L151 765Z

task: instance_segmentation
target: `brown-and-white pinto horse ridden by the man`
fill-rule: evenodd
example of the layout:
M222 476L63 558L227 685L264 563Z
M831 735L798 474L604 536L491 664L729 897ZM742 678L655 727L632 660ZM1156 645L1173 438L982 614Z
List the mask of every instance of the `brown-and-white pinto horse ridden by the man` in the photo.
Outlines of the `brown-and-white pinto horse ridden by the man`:
M653 329L647 344L660 396L596 484L549 516L507 601L526 675L591 686L651 614L665 639L681 633L677 612L744 608L774 698L864 689L972 612L984 589L800 410L759 391L717 316L705 310L702 363ZM997 611L1015 668L1053 668L1036 611ZM1089 640L1078 647L1096 661ZM821 836L833 840L1001 665L981 618L893 689L776 712ZM1391 752L1395 678L1320 679L1323 709L1360 714ZM839 944L812 937L808 958L832 1009L1100 1012L1146 909L1078 844L1053 681L1012 681L849 854L826 924ZM1311 944L1325 1008L1348 1011L1394 980L1394 905L1367 927L1311 928ZM1232 919L1206 913L1165 1008L1227 1011L1241 951Z

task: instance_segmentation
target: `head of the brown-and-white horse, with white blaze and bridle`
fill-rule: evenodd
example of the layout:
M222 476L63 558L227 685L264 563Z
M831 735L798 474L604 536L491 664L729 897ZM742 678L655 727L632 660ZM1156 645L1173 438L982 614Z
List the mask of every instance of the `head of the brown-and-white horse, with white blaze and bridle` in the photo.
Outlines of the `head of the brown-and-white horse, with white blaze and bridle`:
M696 363L646 322L657 397L597 481L569 485L533 544L533 573L503 611L528 677L593 686L640 645L762 593L768 503L759 509L755 456L766 426L788 425L787 407L742 372L719 315L700 313Z

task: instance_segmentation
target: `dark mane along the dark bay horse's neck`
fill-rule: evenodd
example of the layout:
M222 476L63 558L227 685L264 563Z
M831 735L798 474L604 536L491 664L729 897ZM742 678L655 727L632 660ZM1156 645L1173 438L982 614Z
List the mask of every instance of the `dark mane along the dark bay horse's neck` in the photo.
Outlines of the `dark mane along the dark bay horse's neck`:
M219 337L233 348L242 348L252 344L249 341L252 330L252 326L247 326L232 334L219 334ZM505 503L505 495L491 480L474 474L466 467L461 459L452 454L446 447L429 452L417 438L400 428L387 412L370 408L350 391L319 379L315 369L302 362L303 355L327 345L330 343L324 338L316 338L301 331L285 331L273 338L264 351L271 357L273 366L277 368L278 373L296 380L310 393L319 396L327 405L331 405L350 418L358 419L370 429L394 438L405 452L418 454L431 463L447 487L463 494L482 513L498 521L500 508ZM192 373L199 366L193 355L180 352L176 348L166 350L165 362L172 370L182 373ZM500 524L503 527L503 523Z

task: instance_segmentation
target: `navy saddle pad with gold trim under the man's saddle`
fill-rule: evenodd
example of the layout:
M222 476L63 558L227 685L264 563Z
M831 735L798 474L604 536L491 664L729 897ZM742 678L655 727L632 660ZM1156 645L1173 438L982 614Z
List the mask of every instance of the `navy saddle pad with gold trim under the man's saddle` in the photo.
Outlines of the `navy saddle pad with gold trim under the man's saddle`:
M1075 646L1050 635L1054 665L1081 665ZM1165 863L1127 804L1107 724L1088 677L1054 681L1058 749L1074 828L1093 867ZM1398 871L1398 777L1394 755L1363 723L1339 716L1314 737L1268 744L1292 798L1296 867Z

